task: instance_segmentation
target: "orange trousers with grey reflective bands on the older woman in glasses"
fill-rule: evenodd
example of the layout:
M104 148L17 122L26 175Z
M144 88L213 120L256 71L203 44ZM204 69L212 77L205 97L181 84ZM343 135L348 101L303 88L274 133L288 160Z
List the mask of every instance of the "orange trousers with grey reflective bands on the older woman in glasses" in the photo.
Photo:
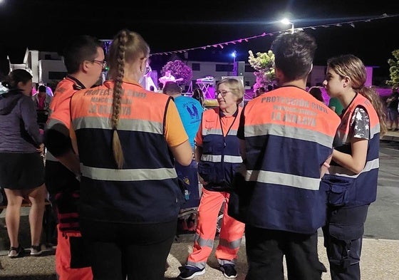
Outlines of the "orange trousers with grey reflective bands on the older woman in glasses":
M245 226L227 214L229 196L228 192L203 190L198 207L194 246L186 264L199 269L206 266L207 259L212 253L217 217L222 205L224 205L223 220L215 255L220 265L235 264Z

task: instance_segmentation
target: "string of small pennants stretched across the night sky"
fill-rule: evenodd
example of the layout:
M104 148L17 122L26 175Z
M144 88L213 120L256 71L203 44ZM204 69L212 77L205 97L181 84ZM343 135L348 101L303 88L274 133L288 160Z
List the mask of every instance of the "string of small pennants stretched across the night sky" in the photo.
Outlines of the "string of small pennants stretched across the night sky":
M370 22L370 21L374 21L374 20L378 20L378 19L388 19L388 18L393 18L393 17L397 17L397 16L399 16L399 14L394 14L394 15L383 14L382 16L378 16L378 17L374 17L374 18L358 19L355 21L343 21L343 22L338 22L338 23L333 23L333 24L321 24L321 25L315 25L315 26L306 26L306 27L300 27L300 28L294 28L294 29L304 31L306 29L316 29L316 28L321 28L321 27L327 28L330 26L341 27L344 25L349 25L349 26L352 26L353 28L355 28L355 24L358 22ZM185 48L185 49L176 50L176 51L165 51L165 52L161 52L161 53L151 53L151 56L163 56L163 55L169 55L169 54L173 54L173 53L186 53L187 51L194 51L194 50L198 50L198 49L207 49L207 48L224 48L224 46L227 46L229 44L242 43L243 41L248 42L255 38L260 38L260 37L264 37L264 36L274 36L276 34L279 34L281 32L285 32L285 31L291 31L291 29L283 30L283 31L275 31L275 32L271 32L271 33L264 32L264 33L261 33L256 36L250 36L247 38L239 38L237 40L227 41L227 42L222 42L222 43L214 43L214 44L210 44L207 46L199 46L199 47L195 47L195 48Z

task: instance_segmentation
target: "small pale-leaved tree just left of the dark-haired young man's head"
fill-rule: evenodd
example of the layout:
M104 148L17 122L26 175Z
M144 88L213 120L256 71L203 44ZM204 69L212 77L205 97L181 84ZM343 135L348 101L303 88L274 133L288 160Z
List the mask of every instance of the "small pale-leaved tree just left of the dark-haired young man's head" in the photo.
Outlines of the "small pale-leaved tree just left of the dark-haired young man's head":
M257 77L257 81L254 84L254 90L257 88L265 87L274 80L274 53L268 51L267 53L257 53L254 56L252 51L248 51L249 57L248 62L254 68L254 75Z

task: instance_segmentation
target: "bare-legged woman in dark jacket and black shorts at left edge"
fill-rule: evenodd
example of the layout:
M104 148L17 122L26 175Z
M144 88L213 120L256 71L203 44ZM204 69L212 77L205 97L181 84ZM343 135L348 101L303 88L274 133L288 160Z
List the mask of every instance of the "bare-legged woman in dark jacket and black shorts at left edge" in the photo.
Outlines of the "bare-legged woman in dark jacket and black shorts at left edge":
M7 197L6 226L10 239L9 257L24 253L19 244L20 208L23 199L31 202L31 255L41 254L44 185L43 139L31 99L32 76L16 69L2 84L9 90L0 95L0 186Z

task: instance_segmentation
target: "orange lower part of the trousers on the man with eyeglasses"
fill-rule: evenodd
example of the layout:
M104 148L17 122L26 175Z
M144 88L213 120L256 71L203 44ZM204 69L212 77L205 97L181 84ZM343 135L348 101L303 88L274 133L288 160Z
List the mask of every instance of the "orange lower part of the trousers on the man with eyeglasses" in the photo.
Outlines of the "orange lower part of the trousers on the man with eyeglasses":
M70 237L81 237L81 234L63 234L59 229L59 224L57 224L56 273L58 280L93 280L90 266L71 269Z

